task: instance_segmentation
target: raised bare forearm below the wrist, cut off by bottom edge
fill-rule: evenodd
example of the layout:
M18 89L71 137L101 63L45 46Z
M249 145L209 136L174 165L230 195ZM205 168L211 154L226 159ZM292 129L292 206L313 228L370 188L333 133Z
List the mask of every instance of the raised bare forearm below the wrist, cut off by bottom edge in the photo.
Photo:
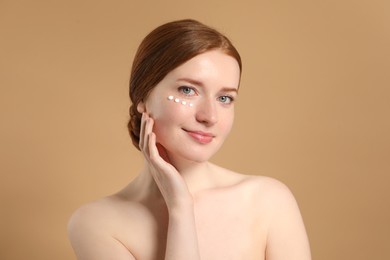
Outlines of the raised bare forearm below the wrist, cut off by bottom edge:
M193 205L169 212L165 260L200 260Z

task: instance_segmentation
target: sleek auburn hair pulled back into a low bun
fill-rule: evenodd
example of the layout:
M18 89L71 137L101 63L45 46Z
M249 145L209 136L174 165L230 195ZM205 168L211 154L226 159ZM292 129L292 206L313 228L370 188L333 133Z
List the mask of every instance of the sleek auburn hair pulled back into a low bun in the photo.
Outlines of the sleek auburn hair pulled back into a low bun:
M128 130L139 150L141 113L137 106L172 70L191 58L211 50L232 56L242 70L241 57L230 40L217 30L192 19L163 24L150 32L135 54L130 76L130 120Z

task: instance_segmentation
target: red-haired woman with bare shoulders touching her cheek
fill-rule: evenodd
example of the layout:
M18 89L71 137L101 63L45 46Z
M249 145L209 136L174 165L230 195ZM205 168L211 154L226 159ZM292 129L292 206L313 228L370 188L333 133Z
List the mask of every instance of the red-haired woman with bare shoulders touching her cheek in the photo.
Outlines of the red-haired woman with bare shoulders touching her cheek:
M144 168L73 214L78 259L310 259L283 184L208 162L232 127L240 75L231 42L197 21L164 24L143 40L128 127Z

